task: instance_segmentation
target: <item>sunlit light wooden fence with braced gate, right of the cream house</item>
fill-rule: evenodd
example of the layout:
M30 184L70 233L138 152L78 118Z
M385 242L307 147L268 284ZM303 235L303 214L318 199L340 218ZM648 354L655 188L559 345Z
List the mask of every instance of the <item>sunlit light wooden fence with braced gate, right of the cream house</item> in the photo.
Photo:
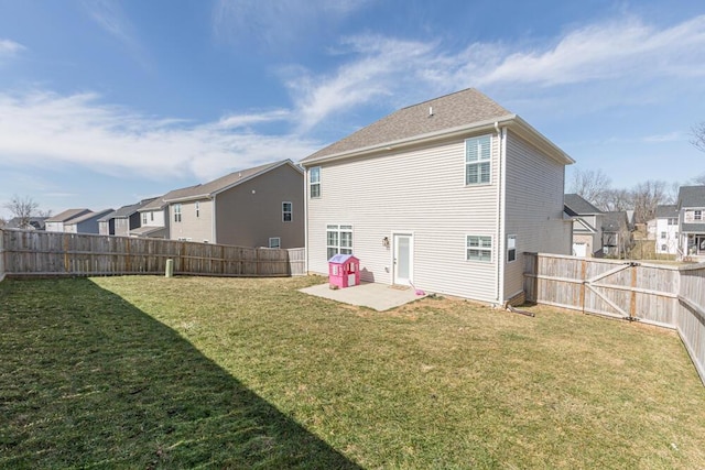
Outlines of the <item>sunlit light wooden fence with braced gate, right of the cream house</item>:
M527 300L677 330L705 383L705 263L524 253Z

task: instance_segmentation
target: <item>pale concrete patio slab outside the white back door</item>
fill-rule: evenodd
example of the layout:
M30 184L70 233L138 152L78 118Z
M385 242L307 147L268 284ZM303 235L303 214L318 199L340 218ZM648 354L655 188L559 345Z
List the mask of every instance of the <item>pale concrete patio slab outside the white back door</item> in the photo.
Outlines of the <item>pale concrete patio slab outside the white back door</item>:
M354 287L332 289L328 283L302 288L304 294L329 298L344 304L373 308L377 311L389 310L410 302L425 297L427 294L416 295L413 287L390 286L377 283L360 283Z

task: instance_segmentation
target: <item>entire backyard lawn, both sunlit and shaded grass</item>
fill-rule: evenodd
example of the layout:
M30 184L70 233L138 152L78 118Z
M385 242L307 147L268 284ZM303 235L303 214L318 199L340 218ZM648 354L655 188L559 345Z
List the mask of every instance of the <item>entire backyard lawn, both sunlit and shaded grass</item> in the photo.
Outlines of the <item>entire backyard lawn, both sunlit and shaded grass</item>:
M671 331L316 282L0 283L0 467L705 467Z

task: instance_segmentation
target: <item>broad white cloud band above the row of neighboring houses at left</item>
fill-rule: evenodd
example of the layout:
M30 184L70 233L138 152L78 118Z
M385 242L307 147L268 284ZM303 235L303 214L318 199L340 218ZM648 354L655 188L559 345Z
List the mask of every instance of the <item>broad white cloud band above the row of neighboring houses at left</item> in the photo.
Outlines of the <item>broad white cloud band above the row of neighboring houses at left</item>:
M207 181L284 157L296 161L319 147L295 135L235 132L236 121L258 119L189 124L101 105L95 94L0 94L0 154L10 166L77 165L155 181L188 174Z

